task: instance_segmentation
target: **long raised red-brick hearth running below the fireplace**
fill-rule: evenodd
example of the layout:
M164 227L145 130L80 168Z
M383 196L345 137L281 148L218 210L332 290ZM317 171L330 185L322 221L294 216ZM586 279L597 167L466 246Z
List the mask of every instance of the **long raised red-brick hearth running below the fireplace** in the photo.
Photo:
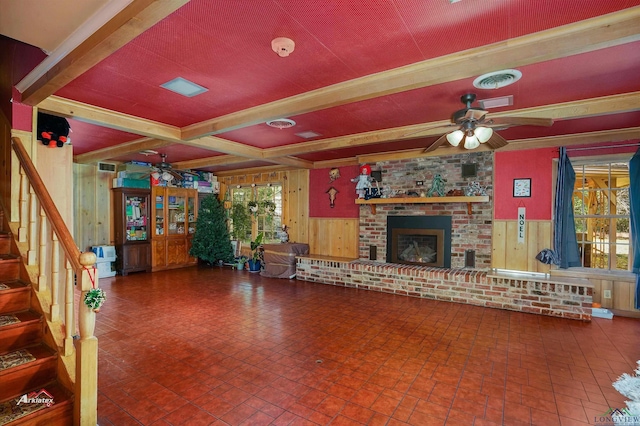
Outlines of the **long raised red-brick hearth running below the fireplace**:
M313 257L299 257L296 272L303 281L591 320L588 280Z

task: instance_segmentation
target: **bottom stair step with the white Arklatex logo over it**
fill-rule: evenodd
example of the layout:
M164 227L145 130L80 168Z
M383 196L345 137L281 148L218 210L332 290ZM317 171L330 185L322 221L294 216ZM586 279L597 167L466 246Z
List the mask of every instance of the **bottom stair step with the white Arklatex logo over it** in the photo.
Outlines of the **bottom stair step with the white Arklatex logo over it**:
M53 404L47 406L46 403L25 403L28 398L50 398L53 399ZM0 425L67 426L72 423L73 397L55 382L0 402Z

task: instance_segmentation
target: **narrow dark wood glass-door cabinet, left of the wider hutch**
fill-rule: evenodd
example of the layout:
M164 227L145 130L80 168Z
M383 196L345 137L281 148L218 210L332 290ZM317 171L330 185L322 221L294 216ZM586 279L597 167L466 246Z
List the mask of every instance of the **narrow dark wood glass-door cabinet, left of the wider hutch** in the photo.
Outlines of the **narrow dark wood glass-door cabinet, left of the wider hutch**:
M148 189L113 188L116 271L151 271Z

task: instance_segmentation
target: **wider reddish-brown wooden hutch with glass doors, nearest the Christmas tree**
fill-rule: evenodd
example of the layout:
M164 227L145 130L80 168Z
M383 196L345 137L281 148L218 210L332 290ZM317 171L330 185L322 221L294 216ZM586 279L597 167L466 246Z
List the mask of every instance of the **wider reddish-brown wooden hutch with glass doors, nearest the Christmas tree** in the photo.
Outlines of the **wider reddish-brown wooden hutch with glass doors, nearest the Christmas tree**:
M189 250L196 231L197 190L154 186L151 198L153 270L195 265L198 259L189 256Z

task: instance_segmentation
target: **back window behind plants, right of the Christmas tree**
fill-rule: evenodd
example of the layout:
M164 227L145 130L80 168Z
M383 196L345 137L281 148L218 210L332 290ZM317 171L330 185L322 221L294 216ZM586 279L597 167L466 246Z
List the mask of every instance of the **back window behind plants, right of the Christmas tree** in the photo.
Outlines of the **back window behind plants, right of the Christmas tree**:
M269 184L231 189L231 233L244 242L264 233L263 242L278 242L282 227L282 185ZM258 209L249 213L249 203ZM253 203L252 203L253 204Z

